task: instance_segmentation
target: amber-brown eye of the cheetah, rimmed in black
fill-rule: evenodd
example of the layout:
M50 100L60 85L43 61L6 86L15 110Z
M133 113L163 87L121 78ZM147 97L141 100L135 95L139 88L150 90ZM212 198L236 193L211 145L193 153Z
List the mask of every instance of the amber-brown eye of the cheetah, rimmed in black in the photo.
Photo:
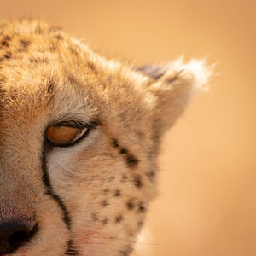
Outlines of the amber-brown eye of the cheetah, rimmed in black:
M69 146L82 137L88 128L76 128L66 125L52 125L46 131L46 137L56 146Z

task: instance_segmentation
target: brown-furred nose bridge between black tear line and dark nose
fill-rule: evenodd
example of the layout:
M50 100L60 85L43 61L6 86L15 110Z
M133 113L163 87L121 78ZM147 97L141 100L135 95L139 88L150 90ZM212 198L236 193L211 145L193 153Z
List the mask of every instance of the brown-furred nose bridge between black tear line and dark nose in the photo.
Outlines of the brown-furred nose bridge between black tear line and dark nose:
M17 220L31 225L35 218L44 187L39 148L31 143L25 136L0 141L0 225Z

